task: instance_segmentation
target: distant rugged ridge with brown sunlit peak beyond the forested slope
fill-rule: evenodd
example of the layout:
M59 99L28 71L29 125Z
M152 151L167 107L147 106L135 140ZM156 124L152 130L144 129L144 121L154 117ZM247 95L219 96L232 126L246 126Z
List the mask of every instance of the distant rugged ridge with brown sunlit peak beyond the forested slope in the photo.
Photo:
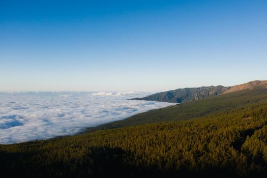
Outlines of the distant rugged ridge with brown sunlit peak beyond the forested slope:
M170 103L184 103L188 101L194 101L203 99L206 97L217 96L221 94L237 92L246 89L252 89L256 86L267 87L267 80L254 80L248 83L234 85L234 86L201 86L194 88L179 88L167 92L156 93L143 98L133 98L131 100L147 100L147 101L163 101Z

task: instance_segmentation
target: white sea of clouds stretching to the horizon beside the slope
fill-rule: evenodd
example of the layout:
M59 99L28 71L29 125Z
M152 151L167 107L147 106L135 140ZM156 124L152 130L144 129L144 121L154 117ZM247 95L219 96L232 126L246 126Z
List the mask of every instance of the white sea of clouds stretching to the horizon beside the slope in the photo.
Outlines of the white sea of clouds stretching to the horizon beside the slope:
M73 135L87 127L123 120L151 109L173 105L128 100L138 92L0 93L0 144Z

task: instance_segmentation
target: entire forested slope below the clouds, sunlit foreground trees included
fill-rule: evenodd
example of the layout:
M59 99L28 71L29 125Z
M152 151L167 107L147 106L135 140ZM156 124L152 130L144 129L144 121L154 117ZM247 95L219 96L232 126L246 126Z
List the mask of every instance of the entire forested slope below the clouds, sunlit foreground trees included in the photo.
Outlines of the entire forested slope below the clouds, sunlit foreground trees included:
M0 145L0 174L257 176L267 173L266 123L267 90L255 87L141 113L81 135Z

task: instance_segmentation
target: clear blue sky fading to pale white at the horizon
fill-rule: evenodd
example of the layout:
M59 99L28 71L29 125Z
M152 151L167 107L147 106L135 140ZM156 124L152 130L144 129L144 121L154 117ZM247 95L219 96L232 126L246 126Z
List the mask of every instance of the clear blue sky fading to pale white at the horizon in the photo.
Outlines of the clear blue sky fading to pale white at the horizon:
M267 1L0 1L0 91L267 79Z

